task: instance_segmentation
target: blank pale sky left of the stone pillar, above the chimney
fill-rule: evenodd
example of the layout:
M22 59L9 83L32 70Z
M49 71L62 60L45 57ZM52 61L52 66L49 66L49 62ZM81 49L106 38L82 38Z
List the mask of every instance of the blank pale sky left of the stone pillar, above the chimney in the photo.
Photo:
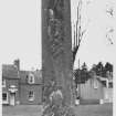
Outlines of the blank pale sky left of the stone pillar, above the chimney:
M41 0L0 0L0 62L41 68Z

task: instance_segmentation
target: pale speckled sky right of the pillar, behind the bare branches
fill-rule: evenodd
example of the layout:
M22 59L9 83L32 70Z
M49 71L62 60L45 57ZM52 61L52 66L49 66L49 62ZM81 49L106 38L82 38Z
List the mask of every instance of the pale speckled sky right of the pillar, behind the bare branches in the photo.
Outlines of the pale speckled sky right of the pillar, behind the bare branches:
M77 0L76 0L77 1ZM75 2L75 1L74 1ZM116 2L115 2L116 3ZM74 3L72 4L73 9ZM76 4L75 4L76 6ZM115 18L110 18L106 13L106 8L114 7L114 0L83 0L82 3L82 29L86 30L82 43L76 55L74 67L76 68L83 62L86 62L88 67L94 63L106 62L114 63L115 40L114 33L112 38L114 44L110 44L106 39L106 32L110 28L116 28ZM72 10L72 19L76 19L76 11Z

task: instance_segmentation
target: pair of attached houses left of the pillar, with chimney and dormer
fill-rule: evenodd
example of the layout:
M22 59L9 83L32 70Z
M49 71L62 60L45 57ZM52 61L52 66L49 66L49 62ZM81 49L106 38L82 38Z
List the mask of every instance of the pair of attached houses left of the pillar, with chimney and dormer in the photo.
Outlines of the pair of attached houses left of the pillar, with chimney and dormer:
M42 103L41 71L20 71L20 61L2 65L2 104L38 105Z

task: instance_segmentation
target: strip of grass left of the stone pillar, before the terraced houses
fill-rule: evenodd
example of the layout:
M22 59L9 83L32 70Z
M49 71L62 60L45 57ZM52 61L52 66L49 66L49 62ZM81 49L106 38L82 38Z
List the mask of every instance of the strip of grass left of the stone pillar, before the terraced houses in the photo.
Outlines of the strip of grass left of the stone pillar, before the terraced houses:
M2 116L41 116L41 109L39 105L3 106Z

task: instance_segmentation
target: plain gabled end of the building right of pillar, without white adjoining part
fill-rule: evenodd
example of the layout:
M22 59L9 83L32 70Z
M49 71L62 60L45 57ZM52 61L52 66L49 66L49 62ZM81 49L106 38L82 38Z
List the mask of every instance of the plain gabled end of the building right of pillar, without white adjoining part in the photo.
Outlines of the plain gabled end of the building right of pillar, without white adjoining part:
M80 85L81 104L84 103L99 103L104 98L104 85L101 80L88 78L85 83Z

